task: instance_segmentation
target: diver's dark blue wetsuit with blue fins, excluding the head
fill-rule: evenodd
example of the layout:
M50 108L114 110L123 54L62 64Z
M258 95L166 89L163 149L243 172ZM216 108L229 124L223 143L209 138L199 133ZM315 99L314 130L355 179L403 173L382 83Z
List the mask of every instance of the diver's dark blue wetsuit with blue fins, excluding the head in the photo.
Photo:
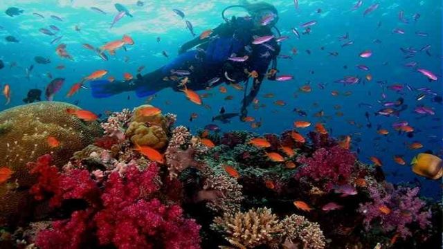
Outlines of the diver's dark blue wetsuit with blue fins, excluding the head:
M138 97L145 97L166 87L172 87L174 91L179 91L183 89L183 86L179 86L178 82L164 80L164 77L174 75L172 73L174 71L189 71L190 75L186 75L189 79L186 86L188 89L196 91L206 89L209 86L208 81L215 77L219 77L220 80L212 86L228 82L225 72L235 82L244 82L248 78L248 75L244 73L244 69L246 69L248 72L256 71L259 75L253 81L251 92L246 96L244 105L247 106L257 95L272 59L280 53L280 45L275 42L275 39L266 42L269 46L253 45L253 36L272 35L269 28L263 27L259 30L253 30L253 28L254 24L251 19L233 17L228 23L215 28L210 37L205 39L196 37L183 44L181 52L184 53L181 53L169 64L146 75L138 75L137 79L132 82L91 82L93 96L106 98L123 91L136 91ZM197 46L196 50L187 51L195 46ZM235 57L248 55L248 59L246 62L228 60L228 57L234 54Z

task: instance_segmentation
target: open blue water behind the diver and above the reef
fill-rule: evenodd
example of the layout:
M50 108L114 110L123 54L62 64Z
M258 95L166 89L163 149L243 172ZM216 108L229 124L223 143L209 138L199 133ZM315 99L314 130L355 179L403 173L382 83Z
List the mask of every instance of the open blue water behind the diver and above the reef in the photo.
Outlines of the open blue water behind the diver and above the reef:
M144 1L143 6L137 6L135 0L120 1L87 1L87 0L27 0L27 1L0 1L0 59L5 62L5 68L0 70L0 84L10 84L11 102L1 105L0 111L19 104L29 89L44 89L48 82L46 73L53 77L64 77L66 82L62 90L55 95L54 100L64 102L79 101L79 106L96 113L104 111L119 111L123 108L132 108L143 104L146 98L136 98L134 93L123 93L112 98L94 99L88 90L81 89L71 98L65 98L67 91L75 82L80 82L82 77L93 71L105 69L109 71L107 76L116 79L123 78L123 73L136 75L139 66L145 66L142 73L148 73L163 64L170 62L177 55L181 44L192 39L192 35L186 28L185 21L172 12L177 8L186 13L186 19L192 22L195 33L199 34L208 28L215 28L223 19L220 12L226 6L237 4L237 1ZM379 3L379 8L363 17L363 12L373 3ZM112 19L117 14L114 3L122 3L132 15L123 17L114 28L109 28ZM442 155L442 104L432 102L433 95L427 95L424 100L415 100L417 91L408 91L406 87L399 92L382 89L378 81L386 81L387 85L409 84L415 89L428 87L438 95L442 95L442 6L438 1L363 1L363 6L358 10L351 11L356 1L311 1L300 0L299 8L294 8L293 1L272 1L279 11L280 20L277 24L282 35L288 35L290 39L282 42L280 54L291 55L292 59L278 59L280 74L294 76L294 80L288 82L265 81L258 95L260 104L266 107L254 110L249 108L248 115L256 120L262 120L262 127L254 129L257 133L280 133L293 128L294 120L308 120L315 124L323 122L332 136L352 136L352 149L359 148L360 160L370 163L370 156L377 156L383 161L383 169L387 173L388 181L416 181L422 184L422 194L426 196L440 196L440 183L429 181L416 176L407 165L397 165L392 156L400 154L407 163L418 154L426 150L434 154ZM8 17L4 10L15 6L24 10L24 13L15 17ZM107 12L102 15L91 10L91 7L100 8ZM320 9L320 10L318 10ZM404 11L404 16L409 23L404 24L399 20L399 12ZM42 19L33 15L39 13ZM419 13L421 17L413 20L413 15ZM63 21L51 18L51 15L61 17ZM244 16L245 12L232 9L226 15ZM311 27L309 35L301 35L297 39L291 28L298 28L302 33L300 24L316 20L317 24ZM48 28L49 25L60 28L57 35L50 37L39 32L39 28ZM80 27L80 31L75 30ZM395 28L405 31L404 35L393 33ZM416 32L426 33L426 37L416 35ZM352 46L341 47L339 36L349 33ZM100 59L91 50L82 47L87 43L92 46L120 39L124 34L130 35L134 46L127 46L127 51L120 49L115 56L109 56L109 61ZM19 43L7 42L3 37L12 35ZM56 44L50 42L60 35L61 41ZM156 42L157 37L161 38ZM381 43L375 43L379 39ZM55 54L55 47L64 43L74 61L62 59ZM428 53L417 52L415 57L405 59L400 48L415 48L419 50L425 45L430 45ZM324 47L324 50L321 48ZM291 50L296 48L298 53L293 55ZM170 55L169 59L162 55L162 51ZM311 51L311 55L306 50ZM372 50L372 57L361 58L359 53L363 50ZM338 52L337 56L329 55L329 52ZM51 64L42 65L34 62L34 57L40 55L49 57ZM125 60L127 62L125 62ZM10 64L16 62L17 66L10 68ZM426 68L435 73L439 80L429 82L424 75L414 68L404 66L407 62L417 62L419 68ZM34 64L35 68L30 80L25 78L25 68ZM364 64L370 67L370 71L361 71L356 65ZM63 70L56 69L58 65L64 65ZM347 66L347 68L344 68ZM371 82L360 82L355 85L343 86L334 82L346 75L365 78L371 74ZM298 89L310 82L311 93L302 93ZM324 89L318 87L318 83L325 84ZM238 111L242 100L242 91L237 91L228 86L228 93L219 93L218 87L210 91L199 93L213 93L210 98L204 98L204 104L211 109L197 106L186 100L183 93L176 93L165 89L156 94L151 104L160 107L163 112L177 113L178 124L184 124L192 130L197 130L211 122L211 117L218 114L219 108L224 107L227 111ZM338 96L333 96L332 91L338 91ZM345 96L346 91L352 92ZM273 93L274 98L264 98L266 93ZM382 93L386 94L386 100L382 100ZM233 100L224 100L227 95L233 95ZM401 112L399 118L374 116L374 112L381 109L381 101L395 101L402 97L408 109ZM284 100L286 105L280 107L273 104L276 100ZM358 104L365 102L372 104L372 108L359 107ZM341 105L340 110L335 110L334 105ZM414 112L417 105L423 104L432 107L435 115L423 115ZM307 117L300 117L293 112L294 108L308 113ZM314 117L314 113L323 110L325 116ZM336 112L343 112L343 117L336 116ZM372 128L366 127L365 111L370 113ZM190 113L198 113L199 117L190 122ZM405 134L398 134L392 129L392 122L406 120L414 127L413 138ZM350 124L352 121L356 124ZM359 125L361 124L361 125ZM377 133L377 125L388 129L388 136ZM232 120L230 124L219 124L223 131L231 129L251 129L250 124ZM311 128L306 129L306 131ZM357 140L361 142L356 142ZM377 140L379 139L379 140ZM407 145L410 142L421 142L422 149L410 150ZM417 181L416 181L417 182ZM416 183L417 184L417 183Z

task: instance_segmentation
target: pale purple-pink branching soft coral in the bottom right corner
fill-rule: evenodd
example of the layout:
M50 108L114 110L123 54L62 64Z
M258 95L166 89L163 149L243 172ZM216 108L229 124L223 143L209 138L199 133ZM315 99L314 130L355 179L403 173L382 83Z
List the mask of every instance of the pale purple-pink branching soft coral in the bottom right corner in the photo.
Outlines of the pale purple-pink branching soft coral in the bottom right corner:
M395 231L406 239L412 235L408 228L412 223L417 223L422 229L431 225L431 210L424 210L426 202L417 197L419 187L371 185L368 190L372 201L361 204L359 208L365 216L366 230L379 225L384 232Z

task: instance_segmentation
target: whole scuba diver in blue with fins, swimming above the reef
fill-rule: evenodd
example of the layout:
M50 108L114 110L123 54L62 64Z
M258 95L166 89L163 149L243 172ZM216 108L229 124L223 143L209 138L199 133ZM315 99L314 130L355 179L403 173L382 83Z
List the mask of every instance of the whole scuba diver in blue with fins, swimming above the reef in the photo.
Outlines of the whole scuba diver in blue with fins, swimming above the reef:
M130 81L92 81L93 97L107 98L124 91L135 91L141 98L168 87L174 91L185 87L197 91L223 83L246 82L239 115L242 120L247 116L246 108L255 99L264 78L275 80L276 57L280 53L280 45L275 39L257 42L260 37L273 36L271 29L278 21L275 7L265 2L242 3L228 8L245 8L250 17L226 19L224 12L228 8L225 8L221 15L226 22L183 44L179 48L179 56L172 62L146 75L138 74ZM253 83L246 94L249 79Z

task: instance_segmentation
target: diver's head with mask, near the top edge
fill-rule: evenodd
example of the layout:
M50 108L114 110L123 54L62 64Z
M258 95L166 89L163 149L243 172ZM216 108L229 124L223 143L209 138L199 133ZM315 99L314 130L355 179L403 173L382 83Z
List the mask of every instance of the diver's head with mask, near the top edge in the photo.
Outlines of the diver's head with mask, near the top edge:
M271 3L249 3L248 1L244 0L242 1L242 5L253 18L254 24L257 28L272 28L275 24L277 24L278 11Z

